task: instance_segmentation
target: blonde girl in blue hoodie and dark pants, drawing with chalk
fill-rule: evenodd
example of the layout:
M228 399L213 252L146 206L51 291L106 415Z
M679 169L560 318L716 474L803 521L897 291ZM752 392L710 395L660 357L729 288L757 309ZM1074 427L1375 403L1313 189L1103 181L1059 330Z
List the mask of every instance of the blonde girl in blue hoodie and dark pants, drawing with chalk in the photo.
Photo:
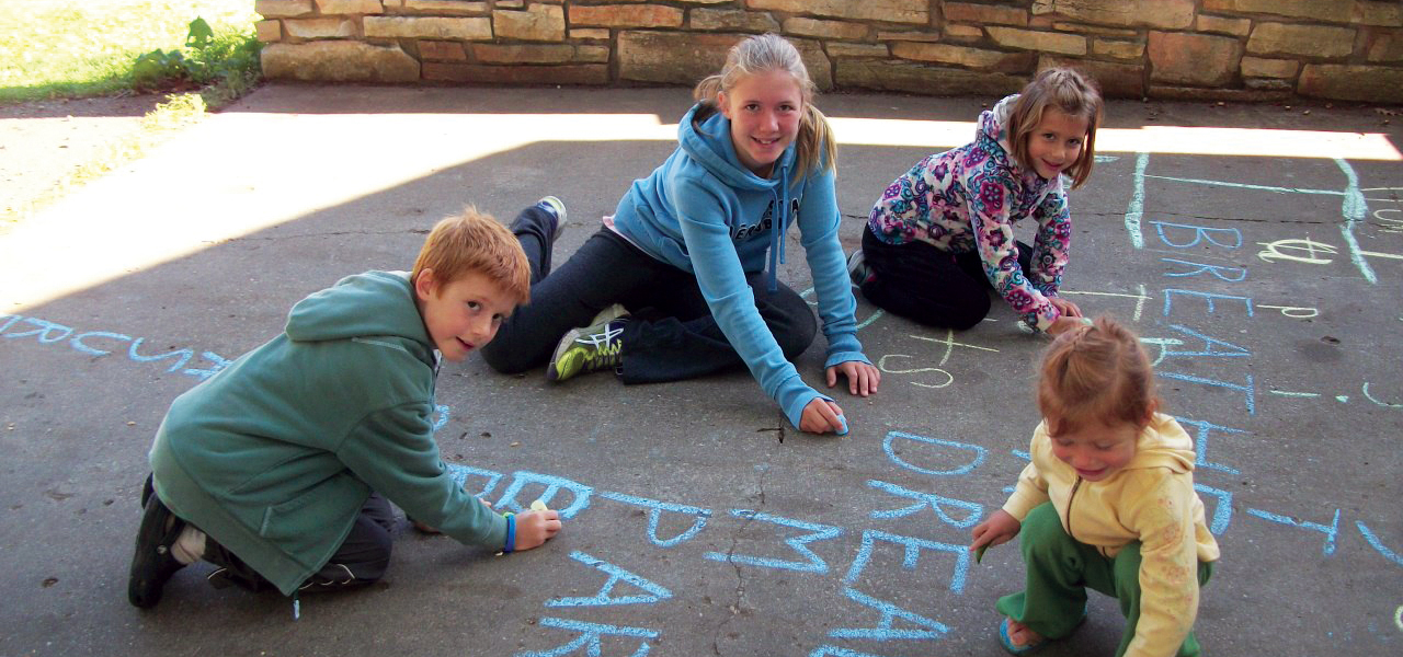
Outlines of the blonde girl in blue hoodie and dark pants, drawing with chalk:
M512 230L532 259L532 303L483 350L487 363L518 373L549 360L553 381L612 368L626 384L744 364L794 426L846 433L842 409L791 364L814 340L815 321L776 280L784 235L797 224L828 338L826 382L845 375L852 394L875 392L881 374L857 342L838 242L832 132L812 95L790 42L746 38L721 73L697 84L676 151L634 181L558 270L550 272L549 251L563 210L554 220L519 217Z

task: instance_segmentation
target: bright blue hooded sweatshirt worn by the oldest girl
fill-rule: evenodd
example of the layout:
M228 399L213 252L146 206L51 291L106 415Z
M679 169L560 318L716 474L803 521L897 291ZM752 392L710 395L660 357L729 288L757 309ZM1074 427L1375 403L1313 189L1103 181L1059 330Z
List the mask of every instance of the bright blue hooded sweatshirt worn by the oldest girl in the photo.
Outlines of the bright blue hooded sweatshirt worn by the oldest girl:
M857 301L838 241L842 217L833 170L801 175L794 171L790 144L772 178L760 178L737 157L731 120L721 112L693 125L700 108L693 106L678 125L678 150L651 175L634 181L619 202L615 228L648 255L697 277L721 332L797 427L804 406L831 398L804 384L784 360L745 276L769 269L773 290L784 261L784 233L798 224L828 338L824 367L871 363L857 342Z

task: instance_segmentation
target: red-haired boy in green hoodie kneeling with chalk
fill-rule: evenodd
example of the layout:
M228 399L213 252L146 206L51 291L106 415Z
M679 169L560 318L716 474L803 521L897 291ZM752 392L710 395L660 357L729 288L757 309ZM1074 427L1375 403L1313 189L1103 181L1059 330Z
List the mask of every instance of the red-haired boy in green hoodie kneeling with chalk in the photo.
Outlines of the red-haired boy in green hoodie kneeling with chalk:
M564 206L522 212L558 224ZM463 544L505 552L560 531L556 511L499 516L453 483L434 441L439 359L462 361L529 298L518 240L469 207L414 270L366 272L297 303L283 333L180 395L152 445L128 598L154 607L195 560L210 581L283 595L376 581L390 502Z

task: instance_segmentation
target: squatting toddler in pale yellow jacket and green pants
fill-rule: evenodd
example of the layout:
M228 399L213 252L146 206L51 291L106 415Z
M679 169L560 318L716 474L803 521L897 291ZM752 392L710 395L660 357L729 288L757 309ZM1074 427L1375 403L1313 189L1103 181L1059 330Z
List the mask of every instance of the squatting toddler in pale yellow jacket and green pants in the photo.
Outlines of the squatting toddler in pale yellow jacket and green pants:
M1086 618L1086 588L1120 600L1120 656L1197 656L1198 590L1218 542L1194 492L1194 444L1159 413L1139 338L1115 321L1063 332L1042 356L1031 462L969 549L1021 531L1021 593L999 598L999 642L1027 654Z

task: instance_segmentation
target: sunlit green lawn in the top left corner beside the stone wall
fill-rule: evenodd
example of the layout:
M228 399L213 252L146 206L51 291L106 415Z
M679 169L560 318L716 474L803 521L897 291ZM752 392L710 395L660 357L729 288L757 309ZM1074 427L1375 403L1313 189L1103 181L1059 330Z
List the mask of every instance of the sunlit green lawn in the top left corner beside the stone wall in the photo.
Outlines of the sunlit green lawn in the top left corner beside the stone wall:
M253 0L0 1L0 104L206 88L217 106L258 78L253 8ZM195 18L215 38L191 57L185 38ZM154 50L185 55L187 80L150 88L133 77L136 59Z

